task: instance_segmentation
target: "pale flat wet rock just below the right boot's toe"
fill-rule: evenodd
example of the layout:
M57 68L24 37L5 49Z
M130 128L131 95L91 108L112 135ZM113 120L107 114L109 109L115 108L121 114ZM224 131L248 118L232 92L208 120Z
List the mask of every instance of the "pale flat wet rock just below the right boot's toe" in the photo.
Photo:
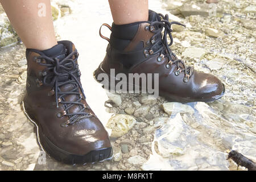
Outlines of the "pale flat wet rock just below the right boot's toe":
M162 104L163 110L167 114L172 114L172 113L191 113L193 114L195 110L186 104L181 104L179 102L167 102Z

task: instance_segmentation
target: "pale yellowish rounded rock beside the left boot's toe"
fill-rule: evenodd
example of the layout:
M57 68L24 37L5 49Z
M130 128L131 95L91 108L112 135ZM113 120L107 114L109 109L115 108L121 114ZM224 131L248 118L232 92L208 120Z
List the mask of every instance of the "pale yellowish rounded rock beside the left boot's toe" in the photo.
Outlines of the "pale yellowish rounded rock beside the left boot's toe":
M136 120L127 114L117 114L111 117L106 127L112 129L111 137L121 137L136 123Z

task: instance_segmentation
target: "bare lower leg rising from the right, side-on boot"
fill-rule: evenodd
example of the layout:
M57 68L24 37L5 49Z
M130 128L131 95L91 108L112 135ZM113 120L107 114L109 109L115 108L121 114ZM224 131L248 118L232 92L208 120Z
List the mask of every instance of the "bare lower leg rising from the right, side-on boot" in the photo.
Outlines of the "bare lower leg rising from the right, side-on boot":
M115 24L148 20L148 0L109 0Z

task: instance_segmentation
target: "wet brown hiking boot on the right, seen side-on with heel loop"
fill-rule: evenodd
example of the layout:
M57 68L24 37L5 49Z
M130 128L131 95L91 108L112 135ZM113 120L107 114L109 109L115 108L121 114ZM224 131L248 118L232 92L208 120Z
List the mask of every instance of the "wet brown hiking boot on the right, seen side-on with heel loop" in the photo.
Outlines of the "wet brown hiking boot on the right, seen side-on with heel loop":
M113 23L112 27L102 24L112 34L108 39L101 34L100 29L100 36L108 40L109 44L104 61L94 71L94 78L101 82L98 76L106 73L110 79L113 77L110 69L114 69L114 77L118 73L159 73L159 95L167 100L182 103L210 102L222 97L225 88L217 77L187 67L170 49L171 25L184 25L169 22L168 15L163 16L151 10L148 15L148 21L145 22L123 25ZM170 43L167 42L167 36L170 37ZM118 78L115 77L115 80ZM137 86L141 85L139 82Z

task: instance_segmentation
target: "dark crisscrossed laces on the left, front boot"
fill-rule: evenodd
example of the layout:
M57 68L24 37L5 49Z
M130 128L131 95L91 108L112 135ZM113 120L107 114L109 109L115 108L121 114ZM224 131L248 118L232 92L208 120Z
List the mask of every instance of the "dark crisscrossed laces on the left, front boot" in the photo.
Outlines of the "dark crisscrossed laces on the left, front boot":
M73 56L75 56L75 59L72 59ZM68 121L61 125L63 127L72 125L81 118L94 116L92 113L85 111L85 109L90 109L89 106L85 106L80 102L85 99L85 94L80 83L81 73L79 71L78 64L76 63L78 56L78 52L73 51L63 60L60 60L57 57L52 59L51 57L44 55L36 57L38 64L47 67L42 71L42 85L53 86L53 89L48 93L48 95L50 94L51 96L55 94L57 108L59 107L59 104L64 105L64 113L57 113L57 117L61 118L64 115L69 117ZM65 85L73 85L73 89L68 92L62 92L60 87ZM63 97L70 94L77 95L78 99L76 101L64 101ZM84 98L82 98L82 96ZM68 113L68 109L74 105L77 105L80 110L75 113Z

